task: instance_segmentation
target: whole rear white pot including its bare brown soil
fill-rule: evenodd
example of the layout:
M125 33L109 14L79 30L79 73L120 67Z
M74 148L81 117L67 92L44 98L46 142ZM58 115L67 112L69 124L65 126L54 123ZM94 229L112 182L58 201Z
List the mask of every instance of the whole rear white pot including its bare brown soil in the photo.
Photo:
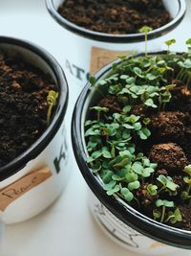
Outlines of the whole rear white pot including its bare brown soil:
M47 8L64 30L63 58L66 75L79 92L93 74L117 56L140 51L144 46L143 26L151 51L161 50L164 35L182 20L184 0L46 0ZM62 39L63 38L63 39Z

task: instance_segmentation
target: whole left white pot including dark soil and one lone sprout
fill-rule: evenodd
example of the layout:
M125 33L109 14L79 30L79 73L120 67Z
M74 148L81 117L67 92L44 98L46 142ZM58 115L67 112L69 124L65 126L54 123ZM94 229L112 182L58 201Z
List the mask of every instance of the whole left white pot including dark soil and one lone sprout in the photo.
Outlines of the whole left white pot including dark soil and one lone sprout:
M25 221L47 208L68 177L68 85L56 60L30 42L0 37L0 213Z

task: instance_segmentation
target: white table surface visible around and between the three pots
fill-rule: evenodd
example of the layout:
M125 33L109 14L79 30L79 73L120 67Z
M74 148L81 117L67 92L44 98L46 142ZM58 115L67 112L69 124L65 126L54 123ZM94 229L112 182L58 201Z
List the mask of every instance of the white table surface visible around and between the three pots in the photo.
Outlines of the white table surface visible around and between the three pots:
M191 0L187 4L189 11L180 27L166 37L178 39L178 50L191 37ZM31 40L46 48L64 66L60 55L62 33L63 29L46 11L44 0L0 0L0 35ZM73 81L69 83L67 124L77 98ZM61 197L32 220L7 226L0 256L136 256L112 242L96 225L87 207L86 183L71 154L72 168L68 170L71 176ZM168 255L191 256L191 251L179 250Z

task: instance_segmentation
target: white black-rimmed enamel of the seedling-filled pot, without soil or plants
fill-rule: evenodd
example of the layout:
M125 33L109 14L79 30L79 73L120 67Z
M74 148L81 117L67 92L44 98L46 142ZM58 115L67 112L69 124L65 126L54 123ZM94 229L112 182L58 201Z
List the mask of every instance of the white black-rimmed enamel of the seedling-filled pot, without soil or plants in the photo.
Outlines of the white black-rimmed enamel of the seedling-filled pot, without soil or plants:
M166 52L155 54L165 55ZM102 68L96 74L96 82L111 76L112 67L113 63ZM81 174L92 190L89 206L97 223L117 244L138 253L157 255L176 250L177 247L191 249L190 231L154 221L139 213L117 195L108 196L100 177L93 174L89 168L86 161L88 151L84 124L90 107L97 102L97 94L96 89L91 88L91 83L88 82L78 97L72 122L74 155Z

